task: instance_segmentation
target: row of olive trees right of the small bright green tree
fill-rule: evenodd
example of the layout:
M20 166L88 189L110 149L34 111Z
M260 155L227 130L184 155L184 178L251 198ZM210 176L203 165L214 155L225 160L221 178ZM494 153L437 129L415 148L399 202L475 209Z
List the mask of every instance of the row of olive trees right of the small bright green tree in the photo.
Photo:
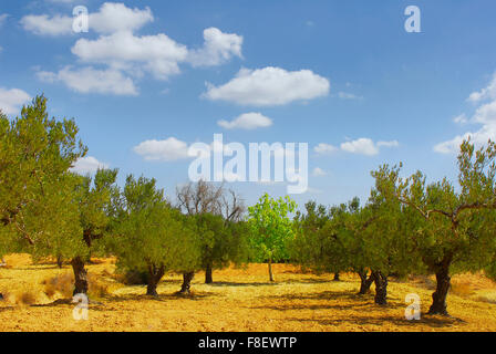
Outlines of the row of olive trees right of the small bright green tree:
M360 294L374 282L378 304L386 303L390 275L435 274L428 312L447 314L452 274L495 274L495 156L494 142L475 149L466 140L456 187L446 178L427 184L421 171L402 178L401 165L384 165L372 173L363 207L358 198L329 209L308 202L296 218L292 258L317 271L358 273Z

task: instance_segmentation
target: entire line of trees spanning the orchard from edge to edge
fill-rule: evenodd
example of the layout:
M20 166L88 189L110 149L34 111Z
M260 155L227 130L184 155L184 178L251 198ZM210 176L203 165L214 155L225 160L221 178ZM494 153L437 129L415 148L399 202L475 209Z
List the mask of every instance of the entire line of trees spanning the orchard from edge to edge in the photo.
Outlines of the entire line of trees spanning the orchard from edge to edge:
M478 150L464 142L458 186L427 184L422 173L400 176L402 166L372 173L375 186L363 206L354 198L327 208L316 202L297 212L289 198L264 195L246 208L224 186L187 184L176 204L155 179L116 169L94 177L71 173L87 148L73 119L50 119L39 96L9 121L0 114L0 256L29 252L69 261L74 294L87 292L91 256L117 257L117 269L144 273L156 295L167 272L183 274L182 293L194 275L230 263L292 261L318 272L355 272L359 293L375 283L375 302L386 303L391 275L434 273L431 313L446 314L450 277L485 270L496 275L496 144ZM293 217L294 216L294 217Z

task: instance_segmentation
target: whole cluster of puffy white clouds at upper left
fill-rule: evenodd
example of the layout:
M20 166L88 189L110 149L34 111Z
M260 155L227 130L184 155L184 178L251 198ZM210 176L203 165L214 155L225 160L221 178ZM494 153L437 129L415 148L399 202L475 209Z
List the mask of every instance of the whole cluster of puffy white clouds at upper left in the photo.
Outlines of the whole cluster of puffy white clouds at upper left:
M213 66L234 56L242 58L242 37L224 33L216 28L204 31L204 44L196 50L188 49L165 33L136 34L136 31L154 21L149 8L128 8L123 3L105 2L97 12L90 13L89 17L89 29L99 37L79 39L71 52L76 56L78 63L90 66L42 72L39 77L52 77L53 82L63 82L82 93L136 94L134 81L144 74L151 74L156 80L168 80L180 73L180 64ZM30 14L21 19L24 30L38 35L71 34L72 24L72 17L60 14ZM103 69L96 70L91 65ZM87 80L91 83L74 85L73 79L83 73L91 74ZM96 85L93 79L108 79L110 82ZM124 85L118 88L121 83Z

